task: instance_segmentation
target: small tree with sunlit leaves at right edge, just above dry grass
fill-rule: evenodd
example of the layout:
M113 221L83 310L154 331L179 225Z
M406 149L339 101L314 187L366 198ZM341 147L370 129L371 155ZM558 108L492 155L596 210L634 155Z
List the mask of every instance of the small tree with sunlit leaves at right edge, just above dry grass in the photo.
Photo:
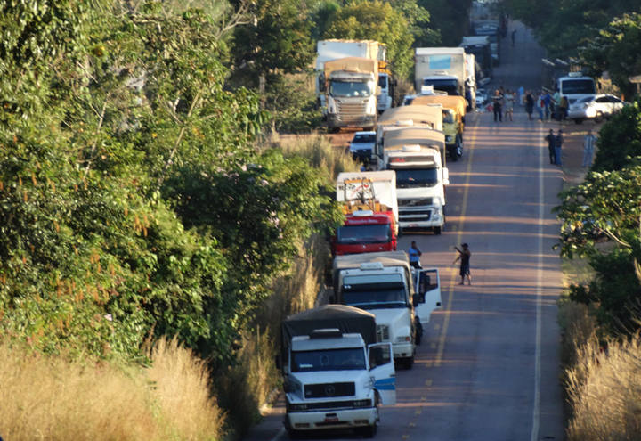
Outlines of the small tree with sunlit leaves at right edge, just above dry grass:
M561 193L561 254L588 257L595 278L573 284L570 298L591 305L605 329L637 329L641 301L641 166L591 172L584 183ZM607 239L613 247L599 244Z

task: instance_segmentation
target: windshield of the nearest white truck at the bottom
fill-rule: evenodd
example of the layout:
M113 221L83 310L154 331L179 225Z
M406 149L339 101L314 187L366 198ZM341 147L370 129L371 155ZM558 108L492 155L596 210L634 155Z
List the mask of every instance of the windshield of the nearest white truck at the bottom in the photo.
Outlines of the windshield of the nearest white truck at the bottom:
M361 371L364 369L366 369L365 352L362 347L292 352L292 372Z

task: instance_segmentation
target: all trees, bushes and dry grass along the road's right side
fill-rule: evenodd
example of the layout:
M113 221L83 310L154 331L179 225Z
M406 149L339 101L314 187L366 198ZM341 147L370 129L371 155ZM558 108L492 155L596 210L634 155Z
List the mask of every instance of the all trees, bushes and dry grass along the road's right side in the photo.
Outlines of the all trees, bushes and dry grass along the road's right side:
M641 10L630 0L505 3L548 58L608 72L631 102L601 128L584 181L560 194L569 282L559 323L568 439L641 439L641 97L629 81L641 73Z

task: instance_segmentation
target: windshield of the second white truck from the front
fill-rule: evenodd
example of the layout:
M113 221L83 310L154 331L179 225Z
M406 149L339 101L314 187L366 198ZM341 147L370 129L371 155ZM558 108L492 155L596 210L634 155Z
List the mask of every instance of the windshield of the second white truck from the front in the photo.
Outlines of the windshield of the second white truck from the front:
M343 285L343 303L361 309L406 307L402 282L379 282Z

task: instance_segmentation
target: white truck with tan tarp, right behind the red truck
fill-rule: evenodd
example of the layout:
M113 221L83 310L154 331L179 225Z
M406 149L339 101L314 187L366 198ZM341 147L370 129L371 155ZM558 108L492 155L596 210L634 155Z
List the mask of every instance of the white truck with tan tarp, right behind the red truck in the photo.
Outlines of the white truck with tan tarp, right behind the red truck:
M426 128L408 127L385 139L384 165L396 172L399 231L430 229L441 234L445 225L445 136Z

